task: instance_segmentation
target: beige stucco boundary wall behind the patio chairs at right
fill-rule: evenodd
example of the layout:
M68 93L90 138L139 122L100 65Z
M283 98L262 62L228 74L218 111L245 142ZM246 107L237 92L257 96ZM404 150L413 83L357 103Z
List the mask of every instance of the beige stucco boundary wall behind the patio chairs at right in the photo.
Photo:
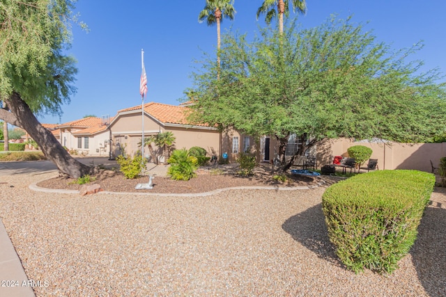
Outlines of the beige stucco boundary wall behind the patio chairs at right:
M367 143L340 138L324 141L318 145L318 162L331 163L334 156L348 156L348 147L364 145L373 153L371 159L378 159L379 169L414 169L431 172L432 160L438 167L440 158L446 156L446 143Z

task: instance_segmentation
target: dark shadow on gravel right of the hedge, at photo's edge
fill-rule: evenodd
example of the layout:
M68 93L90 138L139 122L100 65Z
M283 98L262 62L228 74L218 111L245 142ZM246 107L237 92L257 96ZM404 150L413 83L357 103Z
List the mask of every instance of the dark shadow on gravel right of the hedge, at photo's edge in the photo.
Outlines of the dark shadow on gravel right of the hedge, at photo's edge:
M410 249L418 279L429 296L446 296L446 205L429 202Z

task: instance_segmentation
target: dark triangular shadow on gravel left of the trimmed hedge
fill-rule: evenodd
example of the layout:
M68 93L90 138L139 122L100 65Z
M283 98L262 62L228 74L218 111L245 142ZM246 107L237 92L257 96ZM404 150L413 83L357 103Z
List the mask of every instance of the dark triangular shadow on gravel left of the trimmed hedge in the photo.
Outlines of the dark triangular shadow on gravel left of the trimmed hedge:
M282 225L282 229L293 236L295 241L316 253L318 257L336 266L344 267L328 238L328 230L325 225L325 216L323 215L321 203L310 207L300 214L291 216Z

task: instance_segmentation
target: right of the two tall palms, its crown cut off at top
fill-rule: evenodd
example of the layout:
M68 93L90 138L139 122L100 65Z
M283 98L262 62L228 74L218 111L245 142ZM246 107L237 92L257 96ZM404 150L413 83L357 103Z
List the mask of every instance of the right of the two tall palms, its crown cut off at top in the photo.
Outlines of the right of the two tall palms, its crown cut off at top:
M304 14L307 11L307 3L305 0L291 0L293 4L293 12ZM284 33L284 13L289 10L289 0L263 0L262 6L257 10L257 19L262 13L266 13L265 22L270 24L272 17L276 16L275 5L277 5L277 13L279 14L279 33Z

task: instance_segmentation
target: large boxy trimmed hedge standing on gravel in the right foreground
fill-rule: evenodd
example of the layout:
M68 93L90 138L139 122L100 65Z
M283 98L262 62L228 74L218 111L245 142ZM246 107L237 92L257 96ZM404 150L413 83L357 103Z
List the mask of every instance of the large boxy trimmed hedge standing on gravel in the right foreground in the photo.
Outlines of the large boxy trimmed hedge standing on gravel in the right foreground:
M322 207L337 255L355 273L391 273L415 242L435 176L416 170L381 170L333 184Z

